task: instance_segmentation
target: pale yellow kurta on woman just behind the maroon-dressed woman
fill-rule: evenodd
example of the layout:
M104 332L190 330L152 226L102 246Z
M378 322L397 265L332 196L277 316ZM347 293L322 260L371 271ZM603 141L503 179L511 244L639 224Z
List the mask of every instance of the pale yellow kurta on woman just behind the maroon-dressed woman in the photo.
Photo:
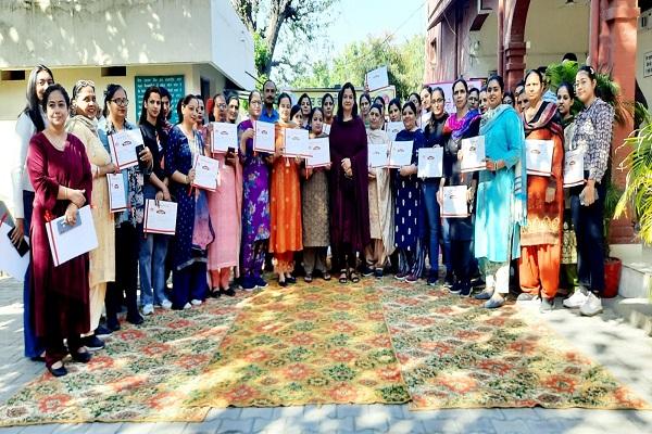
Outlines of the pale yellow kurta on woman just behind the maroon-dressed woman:
M66 130L84 143L90 164L105 166L111 163L111 155L91 129L92 125L90 119L78 115L68 120ZM113 214L109 209L109 186L105 176L92 180L91 201L92 219L98 235L98 248L89 253L89 284L93 288L115 281L115 226Z

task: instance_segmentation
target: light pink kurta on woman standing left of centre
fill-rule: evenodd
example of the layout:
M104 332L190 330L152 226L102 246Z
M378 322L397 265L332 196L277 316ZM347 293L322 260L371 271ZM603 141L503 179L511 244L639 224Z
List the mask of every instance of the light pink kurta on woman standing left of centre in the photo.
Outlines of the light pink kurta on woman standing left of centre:
M225 154L215 153L220 162L220 184L209 192L209 212L215 242L209 245L209 270L236 267L240 257L240 220L242 208L242 166L226 165Z

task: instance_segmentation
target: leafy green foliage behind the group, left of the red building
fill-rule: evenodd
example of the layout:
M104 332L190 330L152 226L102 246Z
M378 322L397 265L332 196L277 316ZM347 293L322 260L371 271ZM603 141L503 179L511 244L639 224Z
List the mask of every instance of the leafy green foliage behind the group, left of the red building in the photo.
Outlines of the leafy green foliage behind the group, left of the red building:
M319 60L292 81L292 87L334 87L351 81L364 85L365 74L379 66L388 66L390 85L397 88L397 95L408 97L418 91L424 76L424 36L418 35L396 43L392 37L369 37L364 41L348 44L331 64Z

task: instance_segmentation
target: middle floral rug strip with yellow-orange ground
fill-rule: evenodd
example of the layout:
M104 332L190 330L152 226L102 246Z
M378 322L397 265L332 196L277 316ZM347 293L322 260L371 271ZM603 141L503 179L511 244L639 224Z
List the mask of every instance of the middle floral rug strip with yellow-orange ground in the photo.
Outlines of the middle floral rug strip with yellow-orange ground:
M251 297L189 405L399 404L409 395L377 290L322 280Z

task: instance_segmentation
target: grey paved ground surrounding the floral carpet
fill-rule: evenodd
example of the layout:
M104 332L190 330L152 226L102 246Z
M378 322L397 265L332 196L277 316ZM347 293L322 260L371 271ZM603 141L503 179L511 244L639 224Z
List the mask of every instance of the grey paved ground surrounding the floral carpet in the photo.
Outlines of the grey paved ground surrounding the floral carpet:
M559 304L559 303L557 303ZM22 285L0 278L0 401L43 371L23 357ZM532 312L532 315L538 315ZM652 339L613 312L579 318L557 309L549 323L652 403ZM202 423L16 426L3 433L652 433L652 411L471 409L410 411L406 405L213 409Z

